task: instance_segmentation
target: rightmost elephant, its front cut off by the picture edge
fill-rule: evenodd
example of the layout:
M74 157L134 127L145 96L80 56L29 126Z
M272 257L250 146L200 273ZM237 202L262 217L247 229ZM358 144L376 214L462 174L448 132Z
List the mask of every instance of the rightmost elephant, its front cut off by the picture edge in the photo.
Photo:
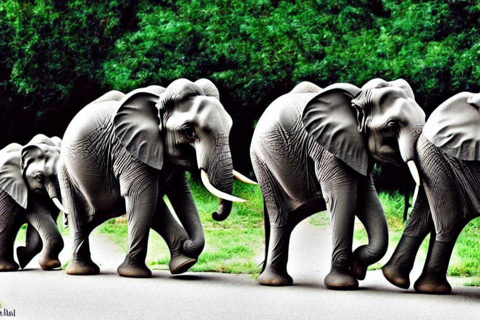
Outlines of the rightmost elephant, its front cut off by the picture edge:
M418 172L410 218L383 275L401 288L410 286L416 252L430 233L423 270L413 288L448 294L446 271L456 238L480 215L480 93L460 92L429 116L412 145ZM415 198L415 196L414 196Z

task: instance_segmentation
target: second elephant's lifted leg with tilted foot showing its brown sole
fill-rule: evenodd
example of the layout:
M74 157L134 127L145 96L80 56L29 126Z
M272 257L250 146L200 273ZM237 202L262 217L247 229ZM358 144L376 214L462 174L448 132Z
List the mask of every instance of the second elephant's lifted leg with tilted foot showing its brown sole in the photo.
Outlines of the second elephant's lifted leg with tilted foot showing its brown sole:
M179 274L196 263L196 258L183 254L183 242L189 240L185 229L175 220L163 199L158 199L151 228L165 240L170 250L168 268L171 274Z

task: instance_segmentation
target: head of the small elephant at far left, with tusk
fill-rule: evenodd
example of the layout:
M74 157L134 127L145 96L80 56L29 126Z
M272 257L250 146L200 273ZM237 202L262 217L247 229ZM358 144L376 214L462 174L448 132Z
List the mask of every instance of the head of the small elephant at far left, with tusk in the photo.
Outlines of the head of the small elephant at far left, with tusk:
M59 201L56 164L60 157L60 144L59 137L48 138L43 134L35 135L22 147L15 143L15 147L10 147L9 152L2 156L0 188L23 208L28 205L29 195L48 196L58 209L66 213Z

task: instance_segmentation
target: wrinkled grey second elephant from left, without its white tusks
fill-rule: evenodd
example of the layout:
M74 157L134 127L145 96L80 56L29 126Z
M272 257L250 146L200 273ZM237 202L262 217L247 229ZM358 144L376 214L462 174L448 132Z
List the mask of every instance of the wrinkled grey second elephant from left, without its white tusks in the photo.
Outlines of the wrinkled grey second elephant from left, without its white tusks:
M205 95L208 93L209 95ZM148 277L145 265L151 226L166 241L170 272L181 273L203 249L203 228L185 170L203 169L217 189L231 193L230 116L206 79L178 79L126 95L110 91L85 106L63 137L60 187L73 232L68 274L97 274L88 235L106 219L126 213L129 250L117 272ZM172 216L167 195L181 226ZM220 200L224 219L231 202Z

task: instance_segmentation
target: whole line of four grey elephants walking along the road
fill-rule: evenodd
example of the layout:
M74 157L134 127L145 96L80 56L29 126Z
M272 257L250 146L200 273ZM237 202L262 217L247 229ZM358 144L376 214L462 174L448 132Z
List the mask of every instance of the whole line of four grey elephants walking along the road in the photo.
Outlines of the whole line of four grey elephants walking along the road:
M328 210L331 269L324 284L352 289L368 265L386 252L387 224L371 171L374 162L405 166L416 183L413 209L390 260L392 284L408 288L418 247L430 233L425 265L414 289L449 293L446 270L456 237L480 215L480 93L461 92L425 121L403 79L372 79L361 87L301 82L275 99L257 122L250 145L263 195L265 260L258 282L289 285L288 245L295 225ZM24 267L37 253L42 269L61 266L58 212L70 225L68 274L98 274L89 233L126 214L129 249L117 272L149 277L149 228L170 250L172 274L190 268L204 233L185 171L199 173L220 198L215 220L225 219L233 178L255 183L232 167L232 119L207 79L177 79L129 93L109 91L82 108L62 139L34 136L0 150L0 271ZM177 215L163 201L166 195ZM355 216L368 244L352 250ZM179 222L177 222L177 220ZM25 246L13 242L28 223Z

